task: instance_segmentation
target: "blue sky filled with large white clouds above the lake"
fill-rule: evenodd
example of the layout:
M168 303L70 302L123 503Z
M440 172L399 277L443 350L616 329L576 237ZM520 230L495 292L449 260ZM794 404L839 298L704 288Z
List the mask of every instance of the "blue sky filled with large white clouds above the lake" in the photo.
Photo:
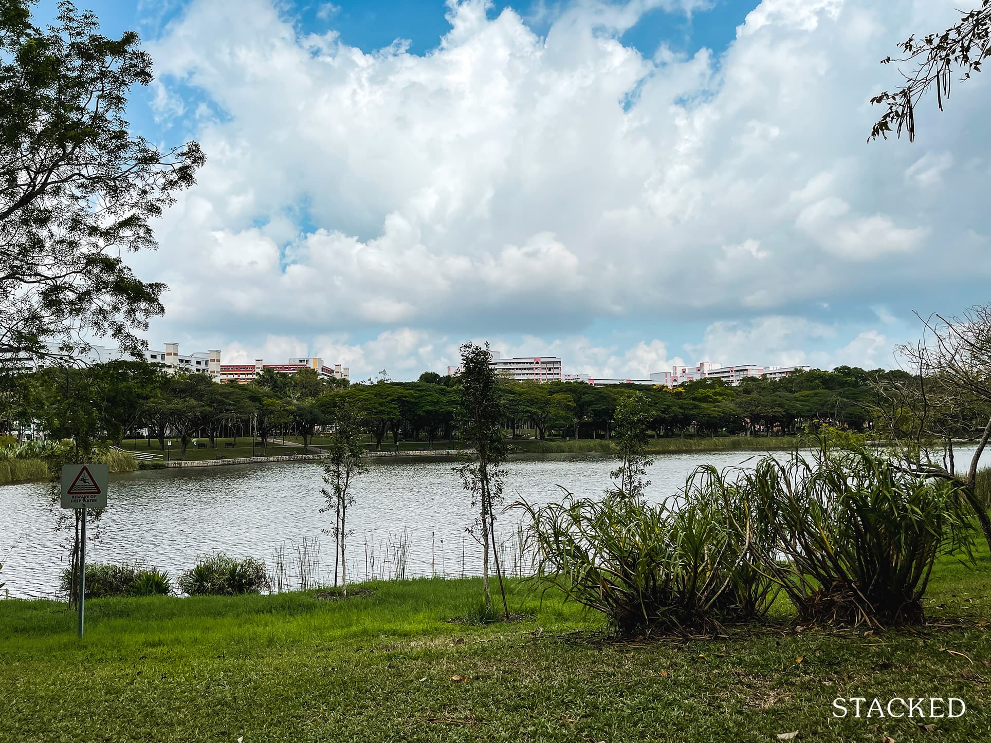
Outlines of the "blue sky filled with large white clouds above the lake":
M991 300L991 81L867 142L878 60L960 0L78 4L155 59L135 129L208 157L134 260L153 347L878 367Z

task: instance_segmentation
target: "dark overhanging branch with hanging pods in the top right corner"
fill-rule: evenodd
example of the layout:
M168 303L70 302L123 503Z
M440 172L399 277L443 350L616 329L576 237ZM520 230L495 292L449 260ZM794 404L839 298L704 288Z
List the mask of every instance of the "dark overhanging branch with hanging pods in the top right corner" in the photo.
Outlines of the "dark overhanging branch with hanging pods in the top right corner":
M898 46L905 56L899 59L887 56L881 63L915 62L916 68L909 73L902 72L905 84L901 88L871 98L871 105L888 107L871 129L872 140L887 139L894 126L897 136L901 137L905 129L909 142L915 141L915 109L922 97L935 87L936 105L942 111L942 102L949 98L953 77L962 72L962 79L966 80L974 72L980 72L983 60L991 56L991 0L983 0L980 8L964 14L958 23L942 33L928 34L922 41L911 36Z

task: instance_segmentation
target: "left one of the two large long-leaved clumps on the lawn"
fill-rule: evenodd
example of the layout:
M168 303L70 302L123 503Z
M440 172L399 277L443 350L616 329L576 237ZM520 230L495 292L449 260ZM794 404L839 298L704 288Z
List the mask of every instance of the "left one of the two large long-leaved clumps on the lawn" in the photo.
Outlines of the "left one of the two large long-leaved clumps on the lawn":
M530 580L603 612L621 634L706 632L725 618L735 557L725 520L709 504L565 492L561 503L518 504L530 521Z

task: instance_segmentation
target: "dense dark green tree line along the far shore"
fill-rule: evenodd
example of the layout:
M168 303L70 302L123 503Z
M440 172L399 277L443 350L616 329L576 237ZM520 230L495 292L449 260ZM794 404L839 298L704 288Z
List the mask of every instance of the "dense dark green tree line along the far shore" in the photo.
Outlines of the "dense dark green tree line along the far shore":
M532 431L537 439L609 438L618 402L633 391L646 399L655 437L788 436L816 421L864 432L873 426L879 383L911 378L903 371L839 367L781 380L747 378L737 386L702 379L673 389L584 382L502 379L502 425L508 438ZM144 362L111 362L88 369L52 368L0 379L0 428L13 433L37 421L49 436L104 438L120 443L145 431L165 449L189 442L296 435L304 444L322 431L347 400L376 449L384 443L422 442L432 449L458 431L457 377L426 371L417 381L378 379L348 385L315 371L266 370L249 384L212 381L205 374L169 374Z

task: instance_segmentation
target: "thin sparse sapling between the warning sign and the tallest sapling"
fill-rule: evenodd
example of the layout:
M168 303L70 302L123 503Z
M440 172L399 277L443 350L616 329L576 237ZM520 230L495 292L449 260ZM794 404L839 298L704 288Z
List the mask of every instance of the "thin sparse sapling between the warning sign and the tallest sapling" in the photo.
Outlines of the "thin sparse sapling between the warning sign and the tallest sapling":
M321 492L326 503L320 509L321 513L334 511L334 528L329 530L334 535L334 585L337 585L338 566L341 570L341 585L344 596L348 595L347 553L345 551L348 536L348 508L354 504L351 494L351 484L368 469L362 460L365 448L359 439L363 431L362 415L356 409L353 400L344 397L338 400L333 413L333 428L324 452L327 460L323 466L323 481L326 485ZM324 530L326 533L328 530Z

